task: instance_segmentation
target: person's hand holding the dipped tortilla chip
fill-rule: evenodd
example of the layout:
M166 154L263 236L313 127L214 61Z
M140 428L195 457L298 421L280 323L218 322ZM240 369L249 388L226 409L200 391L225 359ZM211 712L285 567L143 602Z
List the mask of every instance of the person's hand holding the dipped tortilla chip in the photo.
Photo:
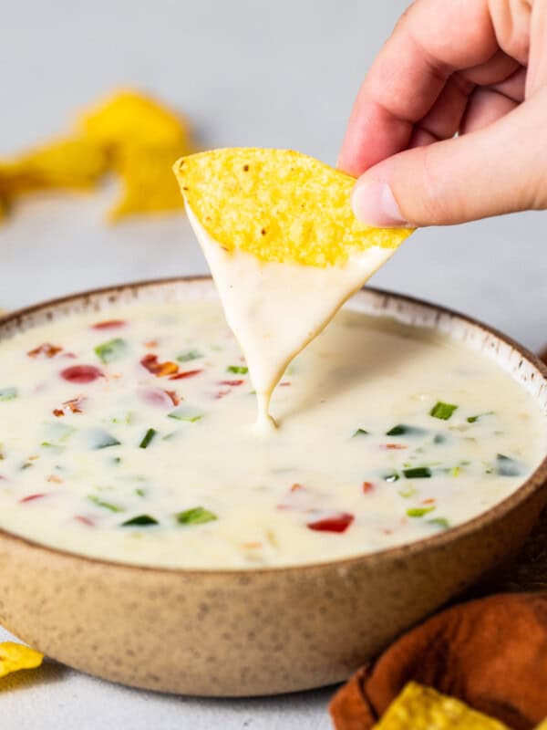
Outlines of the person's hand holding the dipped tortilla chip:
M411 5L359 91L338 166L361 175L352 203L366 224L547 208L547 0Z

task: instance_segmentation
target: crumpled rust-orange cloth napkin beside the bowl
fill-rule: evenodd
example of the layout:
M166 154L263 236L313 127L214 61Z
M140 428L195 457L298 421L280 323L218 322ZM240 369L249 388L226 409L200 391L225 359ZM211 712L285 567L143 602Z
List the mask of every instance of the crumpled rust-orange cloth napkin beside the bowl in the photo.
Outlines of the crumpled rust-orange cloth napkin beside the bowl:
M410 680L534 727L547 716L547 593L473 600L409 631L335 694L336 730L372 728Z

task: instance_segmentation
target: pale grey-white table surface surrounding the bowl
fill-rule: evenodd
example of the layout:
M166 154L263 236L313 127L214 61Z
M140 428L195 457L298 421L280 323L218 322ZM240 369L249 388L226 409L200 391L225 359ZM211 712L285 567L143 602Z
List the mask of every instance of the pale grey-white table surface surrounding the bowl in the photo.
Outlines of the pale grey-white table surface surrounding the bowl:
M185 110L203 146L292 147L335 162L360 79L405 5L4 0L0 154L61 130L78 107L131 84ZM110 185L89 196L19 205L0 225L0 308L206 270L182 215L103 224L115 194ZM547 341L546 216L420 231L374 283L458 308L537 349ZM0 629L0 641L6 638ZM322 730L330 727L325 708L332 691L189 699L49 665L0 684L0 727Z

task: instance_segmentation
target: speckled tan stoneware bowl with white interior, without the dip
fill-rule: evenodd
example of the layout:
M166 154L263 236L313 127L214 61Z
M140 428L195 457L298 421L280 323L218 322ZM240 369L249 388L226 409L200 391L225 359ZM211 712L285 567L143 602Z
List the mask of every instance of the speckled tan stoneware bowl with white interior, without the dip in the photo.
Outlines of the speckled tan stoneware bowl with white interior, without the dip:
M0 319L0 340L77 311L188 297L215 297L211 281L150 282L59 299ZM353 302L483 350L532 393L547 418L546 370L498 332L374 289ZM461 527L302 568L138 568L0 531L0 622L59 662L152 690L233 696L335 683L511 558L547 502L546 480L547 459L508 499Z

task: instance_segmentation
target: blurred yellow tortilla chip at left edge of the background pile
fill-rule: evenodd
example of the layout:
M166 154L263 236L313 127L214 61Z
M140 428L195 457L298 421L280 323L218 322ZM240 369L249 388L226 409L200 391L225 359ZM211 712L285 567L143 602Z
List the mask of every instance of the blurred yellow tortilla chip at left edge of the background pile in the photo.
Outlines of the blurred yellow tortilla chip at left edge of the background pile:
M11 198L45 188L92 187L106 172L107 164L107 154L97 142L68 137L0 162L0 177L5 194Z

